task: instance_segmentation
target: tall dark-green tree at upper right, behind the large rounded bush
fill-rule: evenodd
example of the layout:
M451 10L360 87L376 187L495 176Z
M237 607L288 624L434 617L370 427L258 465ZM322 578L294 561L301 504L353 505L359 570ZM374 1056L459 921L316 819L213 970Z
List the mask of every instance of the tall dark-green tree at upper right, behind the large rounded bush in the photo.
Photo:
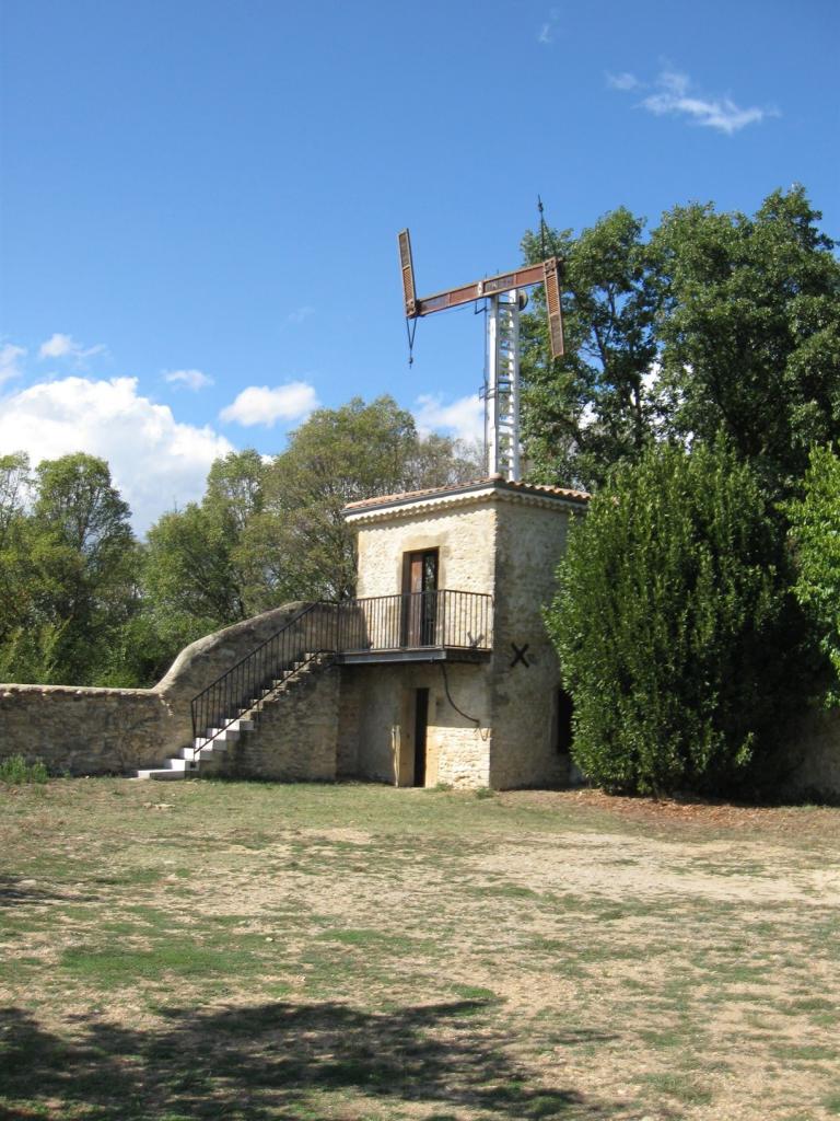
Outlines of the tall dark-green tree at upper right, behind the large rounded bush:
M753 219L675 207L651 245L673 432L725 432L781 493L840 430L840 263L821 217L797 186Z

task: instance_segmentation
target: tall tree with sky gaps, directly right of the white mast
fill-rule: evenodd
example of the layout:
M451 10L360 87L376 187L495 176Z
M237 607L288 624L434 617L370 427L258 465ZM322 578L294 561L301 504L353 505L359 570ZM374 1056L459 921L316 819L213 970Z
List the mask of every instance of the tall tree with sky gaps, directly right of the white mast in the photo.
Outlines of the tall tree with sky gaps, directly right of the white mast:
M563 259L566 355L549 356L545 305L522 317L523 438L530 474L594 488L610 465L636 458L655 430L660 402L651 371L659 287L644 221L620 207L579 238L529 232L525 259Z

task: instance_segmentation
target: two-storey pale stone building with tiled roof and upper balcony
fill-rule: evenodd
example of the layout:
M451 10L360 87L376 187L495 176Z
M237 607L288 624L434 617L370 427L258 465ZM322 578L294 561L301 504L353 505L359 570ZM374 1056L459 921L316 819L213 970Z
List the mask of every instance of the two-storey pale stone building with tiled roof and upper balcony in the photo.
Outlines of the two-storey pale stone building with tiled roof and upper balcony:
M399 786L568 778L570 712L542 609L586 502L494 476L346 508L365 641L348 634L339 655L342 771Z

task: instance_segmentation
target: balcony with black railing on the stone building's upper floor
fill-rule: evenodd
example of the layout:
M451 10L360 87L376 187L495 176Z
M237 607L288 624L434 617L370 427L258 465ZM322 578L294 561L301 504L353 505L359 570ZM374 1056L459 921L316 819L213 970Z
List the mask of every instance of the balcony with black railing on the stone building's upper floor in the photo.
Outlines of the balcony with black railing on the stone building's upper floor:
M493 596L440 590L375 595L339 606L337 659L484 661L493 649Z

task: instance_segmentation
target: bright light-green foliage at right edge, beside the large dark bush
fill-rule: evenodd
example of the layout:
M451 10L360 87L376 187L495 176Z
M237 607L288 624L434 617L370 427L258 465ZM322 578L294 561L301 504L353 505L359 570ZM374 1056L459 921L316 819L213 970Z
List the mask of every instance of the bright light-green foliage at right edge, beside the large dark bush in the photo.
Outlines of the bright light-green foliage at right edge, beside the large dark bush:
M838 680L825 691L828 704L840 704L840 457L815 447L805 474L804 494L787 511L795 547L796 599L812 620L820 649Z

